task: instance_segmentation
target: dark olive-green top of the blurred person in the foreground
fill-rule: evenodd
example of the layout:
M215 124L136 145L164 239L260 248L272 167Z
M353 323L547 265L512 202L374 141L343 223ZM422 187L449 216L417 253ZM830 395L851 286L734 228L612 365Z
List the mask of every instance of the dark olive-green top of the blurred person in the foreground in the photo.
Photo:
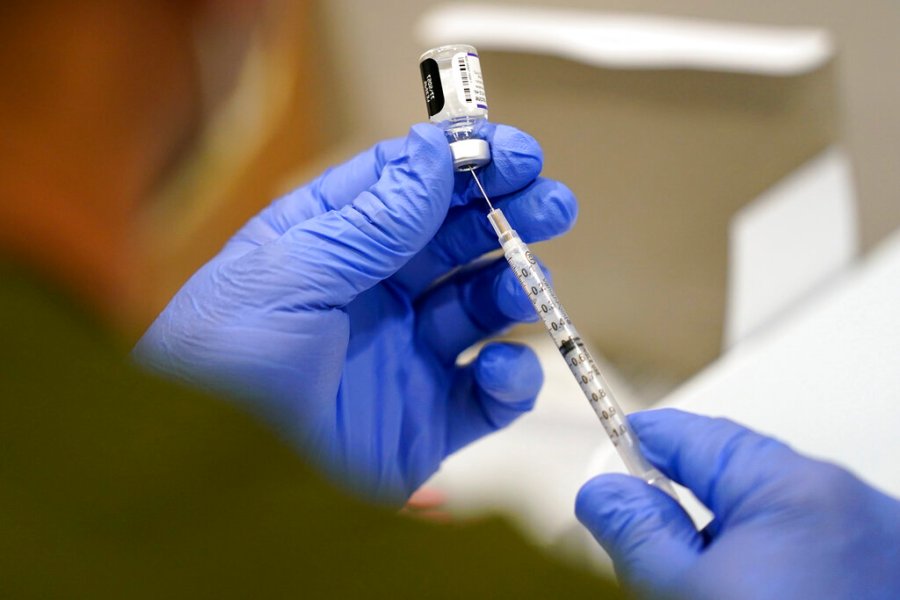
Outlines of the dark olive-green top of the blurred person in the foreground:
M0 597L600 598L499 519L436 525L324 481L237 407L142 373L0 266Z

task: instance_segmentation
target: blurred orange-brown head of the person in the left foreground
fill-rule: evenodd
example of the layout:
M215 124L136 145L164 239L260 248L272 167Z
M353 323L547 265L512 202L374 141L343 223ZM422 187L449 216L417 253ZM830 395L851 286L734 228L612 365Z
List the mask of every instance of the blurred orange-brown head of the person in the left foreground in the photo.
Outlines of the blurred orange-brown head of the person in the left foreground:
M135 209L225 95L261 4L0 2L0 257L121 308Z

